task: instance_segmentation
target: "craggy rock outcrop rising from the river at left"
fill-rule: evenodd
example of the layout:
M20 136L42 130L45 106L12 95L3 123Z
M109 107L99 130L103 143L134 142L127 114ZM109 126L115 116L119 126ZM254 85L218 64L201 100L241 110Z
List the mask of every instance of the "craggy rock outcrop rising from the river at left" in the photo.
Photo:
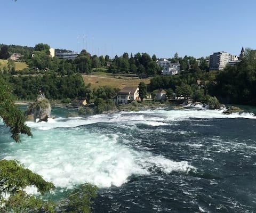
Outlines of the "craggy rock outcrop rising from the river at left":
M34 121L39 118L39 121L47 121L47 119L51 116L51 104L49 100L44 97L38 98L33 104L31 104L27 111L25 112L25 116L27 121Z

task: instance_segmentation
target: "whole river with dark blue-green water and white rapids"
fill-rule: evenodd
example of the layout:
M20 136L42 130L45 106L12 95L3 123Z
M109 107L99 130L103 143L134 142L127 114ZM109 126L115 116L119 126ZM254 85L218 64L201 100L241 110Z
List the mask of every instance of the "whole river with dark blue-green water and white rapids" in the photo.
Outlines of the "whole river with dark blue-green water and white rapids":
M1 123L0 159L53 182L55 196L97 185L92 212L256 212L254 113L187 107L66 118L71 110L27 122L34 137L20 144Z

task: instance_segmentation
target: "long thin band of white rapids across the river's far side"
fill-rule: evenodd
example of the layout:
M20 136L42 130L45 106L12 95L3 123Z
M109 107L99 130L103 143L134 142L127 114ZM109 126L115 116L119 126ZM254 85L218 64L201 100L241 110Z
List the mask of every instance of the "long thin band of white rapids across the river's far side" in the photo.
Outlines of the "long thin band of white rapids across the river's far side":
M255 119L253 113L232 113L223 114L223 110L207 110L207 109L179 109L179 110L147 110L139 112L122 112L114 114L97 114L90 117L70 117L49 119L48 122L27 122L32 128L49 130L57 127L77 127L81 125L89 125L97 122L118 122L126 124L146 124L149 126L165 126L173 125L173 122L197 119L213 119L213 118L247 118Z

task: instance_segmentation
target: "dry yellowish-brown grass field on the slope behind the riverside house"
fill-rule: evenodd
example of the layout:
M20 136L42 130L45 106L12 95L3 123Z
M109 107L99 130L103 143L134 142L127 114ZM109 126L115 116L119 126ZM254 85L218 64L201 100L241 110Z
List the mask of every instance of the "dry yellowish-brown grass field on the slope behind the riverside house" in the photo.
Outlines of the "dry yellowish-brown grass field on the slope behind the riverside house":
M112 86L116 88L124 88L126 86L139 85L143 81L146 85L150 83L151 78L139 79L137 77L109 76L109 75L82 75L84 83L91 83L92 88L99 86Z

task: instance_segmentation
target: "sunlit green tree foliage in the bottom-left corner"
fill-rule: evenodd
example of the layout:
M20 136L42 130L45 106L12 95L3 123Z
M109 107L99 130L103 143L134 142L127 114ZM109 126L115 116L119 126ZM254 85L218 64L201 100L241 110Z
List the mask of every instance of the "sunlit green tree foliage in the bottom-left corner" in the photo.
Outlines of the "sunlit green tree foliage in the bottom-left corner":
M24 190L26 186L34 185L39 193L44 194L55 189L52 183L44 181L15 160L1 160L0 170L1 212L54 212L55 205L52 202L30 196ZM9 193L9 198L3 199L4 193Z

